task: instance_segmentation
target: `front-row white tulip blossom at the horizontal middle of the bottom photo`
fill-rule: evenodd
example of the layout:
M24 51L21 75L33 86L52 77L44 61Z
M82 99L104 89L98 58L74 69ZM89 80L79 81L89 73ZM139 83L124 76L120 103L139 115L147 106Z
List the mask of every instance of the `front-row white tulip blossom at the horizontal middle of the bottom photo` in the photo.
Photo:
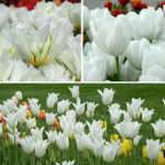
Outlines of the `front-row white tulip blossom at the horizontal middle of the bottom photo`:
M76 143L77 143L78 151L82 152L85 150L90 148L91 140L89 135L86 135L85 133L82 133L82 135L79 134L75 134L75 135L76 135Z

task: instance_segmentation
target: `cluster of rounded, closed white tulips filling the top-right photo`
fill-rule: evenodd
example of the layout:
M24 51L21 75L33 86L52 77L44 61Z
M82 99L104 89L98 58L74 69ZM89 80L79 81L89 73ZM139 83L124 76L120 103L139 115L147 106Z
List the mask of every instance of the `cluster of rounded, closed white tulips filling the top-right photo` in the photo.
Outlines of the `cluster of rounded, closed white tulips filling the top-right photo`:
M84 32L94 38L84 47L84 80L165 81L164 10L114 18L107 8L84 7Z

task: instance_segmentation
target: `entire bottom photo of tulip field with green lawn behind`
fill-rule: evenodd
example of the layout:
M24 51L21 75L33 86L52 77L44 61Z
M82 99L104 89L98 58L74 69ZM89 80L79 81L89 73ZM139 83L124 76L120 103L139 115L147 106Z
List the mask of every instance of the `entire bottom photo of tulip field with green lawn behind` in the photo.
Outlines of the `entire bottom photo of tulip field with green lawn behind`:
M164 85L0 85L0 91L2 164L165 164Z

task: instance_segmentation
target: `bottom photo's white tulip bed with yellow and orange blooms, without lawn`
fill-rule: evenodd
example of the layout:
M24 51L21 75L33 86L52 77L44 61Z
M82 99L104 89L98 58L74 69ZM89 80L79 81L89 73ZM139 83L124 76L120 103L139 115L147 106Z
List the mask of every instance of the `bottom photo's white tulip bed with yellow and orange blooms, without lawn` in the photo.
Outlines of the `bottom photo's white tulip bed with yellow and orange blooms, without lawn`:
M148 122L154 113L154 110L142 108L144 100L132 98L132 102L127 103L128 111L124 111L120 109L119 103L111 103L116 91L108 88L105 88L103 92L98 90L102 98L100 102L110 113L110 121L107 122L110 122L113 129L109 130L106 121L91 120L99 103L80 103L79 86L69 87L69 90L76 103L69 100L58 101L59 94L52 92L45 99L46 107L51 111L46 113L41 110L38 99L28 99L29 103L21 102L21 91L16 91L12 99L3 101L0 106L1 162L6 165L105 165L111 162L125 165L130 161L131 164L141 164L144 158L145 162L148 158L158 165L165 163L162 152L165 142L160 144L160 139L146 140L143 156L138 148L139 141L143 136L139 135L140 128ZM75 109L69 108L72 103ZM89 121L82 123L80 120L85 110ZM124 120L119 122L122 114ZM141 114L143 123L135 121ZM165 135L164 123L165 121L161 119L156 124L152 123L157 138ZM86 125L89 129L88 133ZM117 131L122 141L114 134ZM107 132L111 134L110 141Z

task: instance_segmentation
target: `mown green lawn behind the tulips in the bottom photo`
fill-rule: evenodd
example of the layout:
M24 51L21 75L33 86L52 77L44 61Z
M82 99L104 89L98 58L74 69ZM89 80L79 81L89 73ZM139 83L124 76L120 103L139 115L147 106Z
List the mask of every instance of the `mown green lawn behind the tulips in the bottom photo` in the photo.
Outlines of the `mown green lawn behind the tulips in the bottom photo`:
M68 90L68 87L73 87L73 84L7 84L0 85L0 105L3 103L3 100L7 100L14 96L15 91L22 91L23 94L23 101L28 102L28 98L37 98L41 103L41 109L44 109L45 111L50 111L46 108L46 98L48 96L48 92L59 92L58 101L62 99L69 99L69 101L75 102L75 99L72 98L72 94ZM95 111L94 119L96 120L105 120L108 123L107 133L109 140L110 134L112 133L112 124L110 123L110 114L108 112L108 108L102 105L101 96L98 94L97 89L103 90L103 88L112 88L116 90L113 101L112 103L120 103L121 109L127 111L127 102L131 102L132 98L141 98L145 99L144 103L142 105L143 108L148 108L148 110L154 109L154 116L150 123L155 123L160 118L164 119L165 117L165 110L164 110L164 103L163 98L165 98L164 89L165 85L151 85L151 84L79 84L80 87L80 99L81 102L87 101L95 101L96 103L99 103L99 107L97 107ZM20 103L21 103L20 102ZM70 106L70 109L74 107ZM106 116L105 116L106 111ZM56 105L54 113L56 113ZM139 122L142 122L142 118L138 120ZM82 114L81 121L85 122L86 120L89 120L86 117L86 113ZM120 121L123 120L123 117L120 119ZM44 122L45 123L45 122ZM43 123L43 124L44 124ZM143 138L140 141L140 147L142 145L145 145L146 139L156 139L154 135L154 130L150 123L142 124L140 129L140 134L143 135ZM41 125L41 124L40 124ZM88 127L86 127L86 132L88 132ZM46 127L46 130L48 127ZM116 131L117 133L117 131ZM45 138L45 135L44 135ZM162 139L161 139L162 142Z

